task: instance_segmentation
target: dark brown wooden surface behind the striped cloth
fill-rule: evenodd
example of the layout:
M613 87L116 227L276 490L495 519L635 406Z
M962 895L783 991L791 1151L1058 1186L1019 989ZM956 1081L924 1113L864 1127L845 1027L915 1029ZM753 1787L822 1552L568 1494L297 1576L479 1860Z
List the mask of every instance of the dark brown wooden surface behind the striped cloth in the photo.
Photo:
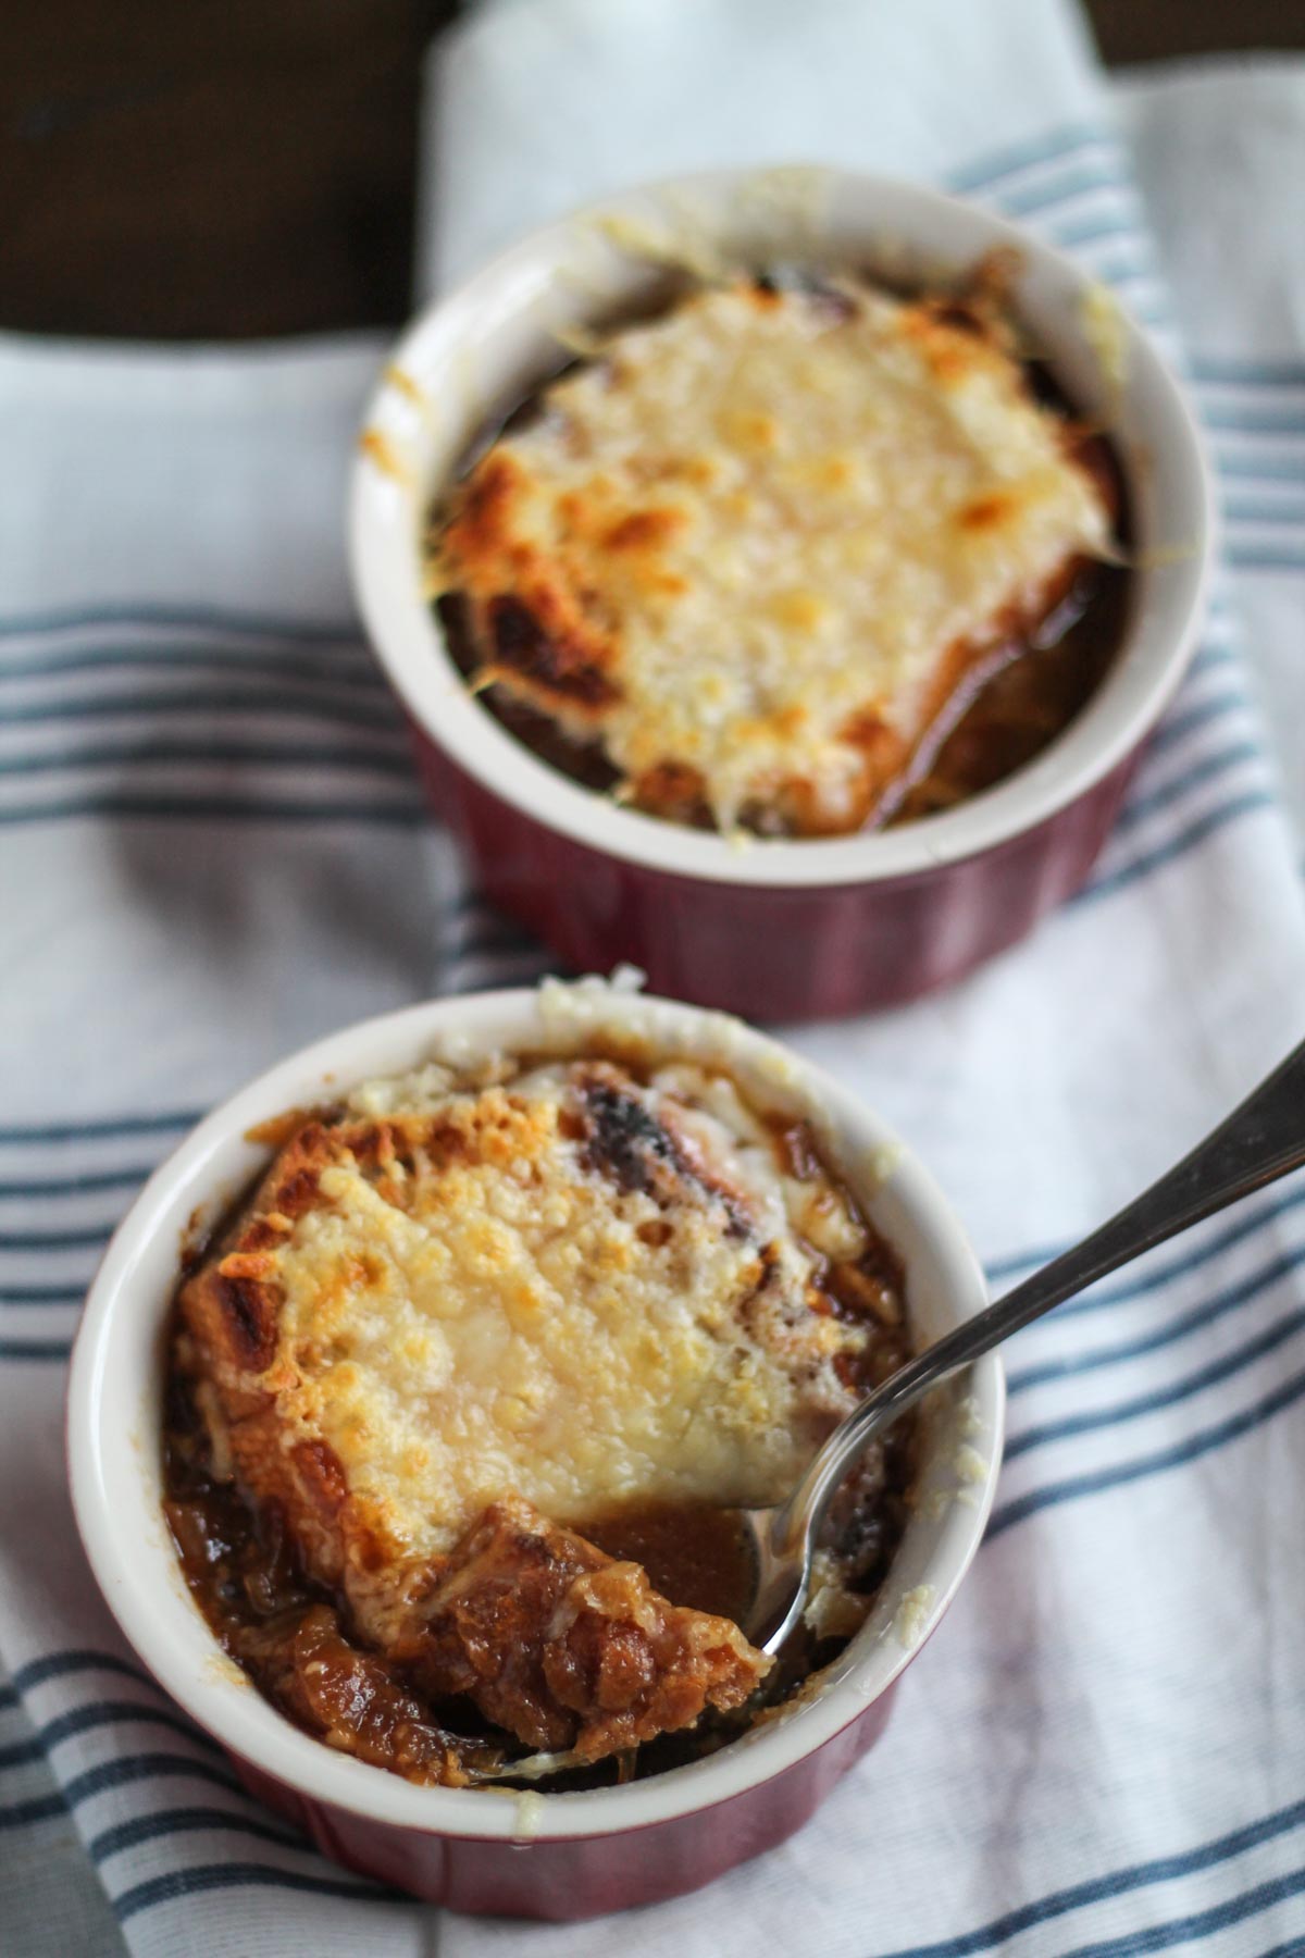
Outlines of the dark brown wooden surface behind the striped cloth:
M0 0L0 327L192 339L403 319L421 53L454 12ZM1305 47L1305 0L1088 12L1109 63Z

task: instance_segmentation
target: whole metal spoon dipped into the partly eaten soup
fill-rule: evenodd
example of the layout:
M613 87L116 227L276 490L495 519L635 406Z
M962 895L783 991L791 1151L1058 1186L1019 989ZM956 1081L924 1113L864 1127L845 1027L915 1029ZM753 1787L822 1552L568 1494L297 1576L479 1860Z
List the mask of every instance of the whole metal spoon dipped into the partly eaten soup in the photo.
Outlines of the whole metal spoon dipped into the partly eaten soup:
M1006 1298L965 1320L900 1367L841 1422L818 1449L787 1502L742 1510L751 1539L757 1588L743 1631L775 1656L796 1629L812 1584L812 1557L830 1502L843 1476L898 1416L931 1388L1017 1333L1021 1326L1082 1292L1105 1273L1176 1237L1192 1224L1305 1165L1305 1042L1233 1114L1107 1224L1043 1265ZM532 1754L505 1762L497 1776L536 1780L577 1766L573 1754Z

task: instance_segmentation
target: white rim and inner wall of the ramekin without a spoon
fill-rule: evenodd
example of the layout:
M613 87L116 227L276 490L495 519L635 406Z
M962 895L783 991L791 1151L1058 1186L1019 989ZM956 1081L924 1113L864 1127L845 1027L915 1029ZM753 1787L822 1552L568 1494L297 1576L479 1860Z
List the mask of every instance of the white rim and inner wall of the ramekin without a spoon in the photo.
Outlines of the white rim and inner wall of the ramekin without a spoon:
M560 358L556 329L610 319L665 280L650 258L708 243L732 262L884 264L925 276L1004 245L1015 305L1070 399L1113 435L1127 468L1137 576L1105 683L1033 764L955 811L884 834L753 842L661 822L579 787L515 740L458 676L421 587L432 493L487 419ZM423 313L366 415L350 499L352 578L368 632L415 723L505 803L630 863L747 885L839 885L912 875L990 850L1092 789L1154 726L1201 619L1213 495L1168 366L1117 313L1123 388L1090 329L1092 284L1060 253L988 211L914 184L841 170L718 170L644 186L530 233ZM1105 303L1098 290L1096 300ZM1094 315L1102 317L1100 303Z

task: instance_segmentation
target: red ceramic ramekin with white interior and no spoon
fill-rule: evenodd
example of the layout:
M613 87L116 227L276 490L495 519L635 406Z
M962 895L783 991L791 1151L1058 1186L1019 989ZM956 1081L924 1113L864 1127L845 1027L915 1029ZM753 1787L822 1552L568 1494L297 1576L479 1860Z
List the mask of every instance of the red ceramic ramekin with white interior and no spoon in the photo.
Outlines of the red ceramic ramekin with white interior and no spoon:
M423 515L495 409L556 366L558 327L653 296L667 278L657 251L937 274L994 247L1017 253L1017 309L1058 380L1115 437L1139 542L1115 668L1045 756L882 836L740 850L579 787L472 699L423 599ZM955 198L835 170L722 170L536 231L423 313L368 407L352 576L428 793L485 895L577 971L632 959L661 993L790 1020L957 979L1076 889L1182 677L1211 536L1192 415L1150 341L1111 307L1068 258Z

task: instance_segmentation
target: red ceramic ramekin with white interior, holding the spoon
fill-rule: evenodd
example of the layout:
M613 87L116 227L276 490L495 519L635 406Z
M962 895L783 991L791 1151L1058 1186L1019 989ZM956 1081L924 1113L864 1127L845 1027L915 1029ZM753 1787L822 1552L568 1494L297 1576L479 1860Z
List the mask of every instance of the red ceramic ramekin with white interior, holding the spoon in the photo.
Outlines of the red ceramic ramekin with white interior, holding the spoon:
M524 1799L415 1788L301 1733L223 1658L160 1514L160 1335L180 1245L196 1224L215 1222L266 1159L248 1132L356 1081L405 1071L454 1036L472 1049L538 1051L581 1046L605 1028L638 1028L657 1049L722 1061L767 1104L812 1118L904 1259L920 1341L982 1306L982 1275L947 1202L845 1089L722 1014L583 981L368 1020L243 1089L145 1185L90 1288L72 1353L78 1529L143 1662L221 1741L245 1782L327 1856L462 1911L571 1919L652 1903L798 1829L875 1741L898 1674L951 1602L978 1549L1002 1453L1002 1369L986 1359L929 1408L922 1500L869 1623L820 1688L722 1752L626 1788Z

